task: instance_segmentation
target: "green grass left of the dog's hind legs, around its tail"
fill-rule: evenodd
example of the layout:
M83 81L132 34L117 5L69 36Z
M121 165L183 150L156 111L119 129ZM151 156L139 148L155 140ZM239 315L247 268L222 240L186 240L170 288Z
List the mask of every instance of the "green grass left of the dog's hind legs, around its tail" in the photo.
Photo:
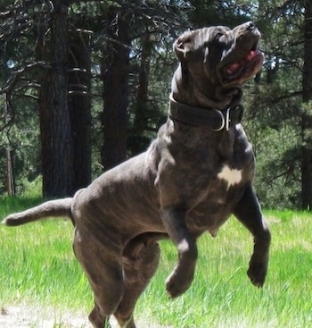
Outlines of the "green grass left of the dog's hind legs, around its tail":
M37 199L12 198L9 212L35 204ZM5 207L1 214L6 214L10 206ZM71 251L72 232L69 221L53 219L16 228L1 227L1 301L86 307L91 293Z

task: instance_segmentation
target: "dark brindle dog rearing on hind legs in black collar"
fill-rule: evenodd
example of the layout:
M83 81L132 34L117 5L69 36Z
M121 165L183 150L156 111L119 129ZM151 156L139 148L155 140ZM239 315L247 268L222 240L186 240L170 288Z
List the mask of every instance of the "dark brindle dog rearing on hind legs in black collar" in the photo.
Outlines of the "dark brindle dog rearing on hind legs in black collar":
M193 281L196 240L205 231L216 236L231 214L253 235L247 274L263 286L271 237L252 188L255 160L241 125L241 86L264 61L259 38L252 22L185 32L174 43L179 65L168 121L147 151L104 172L73 198L4 219L11 226L71 219L74 253L94 291L94 328L108 324L111 315L120 327L135 328L135 303L157 270L161 239L177 247L168 295L184 293Z

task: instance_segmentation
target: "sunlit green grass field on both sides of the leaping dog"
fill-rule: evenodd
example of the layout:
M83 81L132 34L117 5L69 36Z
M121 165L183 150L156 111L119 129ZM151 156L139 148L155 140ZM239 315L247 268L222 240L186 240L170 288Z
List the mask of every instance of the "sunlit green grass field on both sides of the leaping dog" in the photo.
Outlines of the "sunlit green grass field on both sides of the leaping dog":
M0 198L0 216L38 201ZM199 240L193 284L174 300L168 299L164 281L177 252L169 241L161 242L160 268L136 307L138 328L312 326L312 214L265 211L265 215L273 239L263 289L252 286L246 275L250 233L232 217L216 239L206 234ZM88 314L92 293L71 251L72 231L71 223L63 220L0 227L0 307L26 304L42 311L53 309L56 316Z

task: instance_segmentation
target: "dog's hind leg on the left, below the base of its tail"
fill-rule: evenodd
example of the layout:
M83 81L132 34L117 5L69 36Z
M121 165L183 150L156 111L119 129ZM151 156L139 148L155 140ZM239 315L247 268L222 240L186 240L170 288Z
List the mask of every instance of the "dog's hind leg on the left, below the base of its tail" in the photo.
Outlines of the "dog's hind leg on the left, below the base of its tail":
M124 294L121 248L115 240L100 240L93 231L81 232L78 227L73 248L94 292L94 309L89 320L94 328L110 327L110 315Z

